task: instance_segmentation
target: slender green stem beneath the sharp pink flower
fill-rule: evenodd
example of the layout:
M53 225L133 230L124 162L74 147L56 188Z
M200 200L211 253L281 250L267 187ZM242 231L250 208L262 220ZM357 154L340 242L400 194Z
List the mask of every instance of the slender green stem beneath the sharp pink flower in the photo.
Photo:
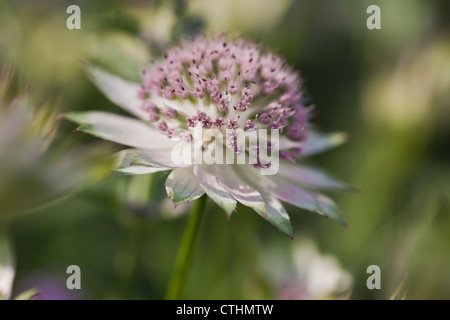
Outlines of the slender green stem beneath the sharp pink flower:
M203 196L196 201L195 207L189 217L186 230L183 234L183 239L181 240L177 260L175 262L175 269L173 271L172 278L167 290L167 300L179 300L181 294L183 293L187 272L192 260L195 240L197 239L198 230L200 228L200 222L203 216L207 198L207 196Z

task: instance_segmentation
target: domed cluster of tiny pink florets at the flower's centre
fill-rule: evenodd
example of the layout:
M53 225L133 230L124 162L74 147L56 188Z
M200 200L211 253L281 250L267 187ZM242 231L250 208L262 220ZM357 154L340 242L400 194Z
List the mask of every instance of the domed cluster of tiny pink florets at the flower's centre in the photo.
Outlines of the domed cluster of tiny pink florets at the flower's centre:
M148 121L169 138L176 129L201 125L223 132L278 129L290 140L305 139L309 109L299 75L283 58L243 38L182 42L142 77L139 96Z

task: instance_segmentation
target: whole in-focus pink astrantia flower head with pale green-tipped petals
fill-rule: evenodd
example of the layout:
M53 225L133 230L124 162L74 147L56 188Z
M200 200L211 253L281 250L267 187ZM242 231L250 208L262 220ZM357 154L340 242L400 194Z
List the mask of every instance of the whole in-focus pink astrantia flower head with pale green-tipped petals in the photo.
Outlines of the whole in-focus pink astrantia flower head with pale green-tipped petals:
M119 152L117 172L146 174L171 171L166 190L175 205L206 193L228 216L237 202L292 237L289 216L281 201L343 223L334 202L319 189L345 189L341 182L305 165L303 156L343 142L342 134L320 135L307 129L310 109L303 105L301 80L283 58L243 38L199 36L181 42L142 72L142 84L125 81L92 66L90 76L106 96L138 118L106 112L69 113L79 130L129 147ZM256 153L255 163L178 163L173 150L189 148L197 129L215 129L226 141L193 144L236 156ZM261 129L276 131L250 150L239 135ZM180 142L181 141L181 142ZM220 150L223 149L223 150ZM262 150L279 151L276 175L264 175L271 163ZM266 150L267 151L267 150ZM261 153L261 155L260 155Z

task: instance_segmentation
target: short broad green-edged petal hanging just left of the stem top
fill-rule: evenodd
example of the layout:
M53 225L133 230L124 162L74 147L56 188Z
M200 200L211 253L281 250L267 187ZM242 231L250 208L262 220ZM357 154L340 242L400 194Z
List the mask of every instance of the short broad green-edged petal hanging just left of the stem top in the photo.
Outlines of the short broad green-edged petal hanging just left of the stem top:
M167 177L166 191L175 206L198 199L205 194L195 179L192 167L174 169Z

